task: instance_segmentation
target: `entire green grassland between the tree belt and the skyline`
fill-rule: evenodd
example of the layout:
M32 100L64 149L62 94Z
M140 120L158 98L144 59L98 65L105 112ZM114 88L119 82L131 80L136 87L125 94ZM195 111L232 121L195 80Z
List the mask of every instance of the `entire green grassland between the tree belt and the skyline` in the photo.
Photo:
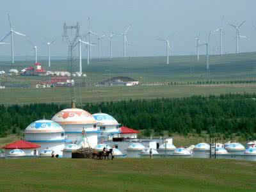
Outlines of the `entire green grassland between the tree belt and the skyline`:
M205 56L200 61L195 56L170 56L170 64L166 65L165 57L114 58L113 60L92 60L86 65L83 60L83 71L87 77L77 79L78 82L95 83L114 76L129 76L141 83L198 81L256 81L256 53L227 54L210 56L210 72L205 70ZM78 70L76 60L76 70ZM22 69L31 66L31 61L0 62L0 70L10 68ZM47 61L42 61L47 70ZM51 70L70 70L66 60L53 60ZM36 83L48 81L49 77L0 77L0 83ZM219 95L221 93L255 92L255 84L225 86L136 86L136 87L76 87L78 102L100 102L122 99L152 99L157 97L189 97L191 95ZM6 88L0 90L1 103L24 104L31 102L69 102L69 88Z

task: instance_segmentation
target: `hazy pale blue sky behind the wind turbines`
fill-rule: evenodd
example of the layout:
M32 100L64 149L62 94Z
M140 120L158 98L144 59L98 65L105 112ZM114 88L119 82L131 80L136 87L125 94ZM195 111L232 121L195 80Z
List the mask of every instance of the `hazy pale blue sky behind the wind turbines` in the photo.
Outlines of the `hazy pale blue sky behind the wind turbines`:
M127 33L127 56L163 56L166 54L164 42L156 38L170 40L170 55L195 54L195 38L200 33L200 41L206 42L209 31L220 28L223 20L223 52L236 51L236 31L228 24L240 24L239 32L246 36L239 43L240 52L256 51L256 1L255 0L1 0L0 38L10 31L7 14L10 13L15 31L24 33L38 46L38 55L47 55L45 42L56 40L51 45L52 56L67 56L67 43L61 40L63 23L75 25L79 22L81 35L88 31L88 16L92 31L98 35L122 33L131 24ZM10 42L7 38L4 42ZM94 38L93 43L97 44ZM15 35L15 56L33 55L33 46L23 36ZM219 33L212 33L211 54L220 49ZM109 56L109 40L102 39L102 56ZM200 53L205 48L200 47ZM10 56L10 45L0 46L0 56ZM123 54L122 36L113 40L113 56ZM97 57L98 47L92 49ZM83 56L86 49L83 47Z

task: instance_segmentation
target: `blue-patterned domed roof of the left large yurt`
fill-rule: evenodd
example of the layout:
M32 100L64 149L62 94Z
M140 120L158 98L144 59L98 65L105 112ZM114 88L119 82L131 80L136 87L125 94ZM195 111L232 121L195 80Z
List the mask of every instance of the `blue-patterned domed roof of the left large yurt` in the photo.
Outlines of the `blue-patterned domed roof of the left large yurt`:
M64 132L61 125L51 120L37 120L28 125L25 133Z

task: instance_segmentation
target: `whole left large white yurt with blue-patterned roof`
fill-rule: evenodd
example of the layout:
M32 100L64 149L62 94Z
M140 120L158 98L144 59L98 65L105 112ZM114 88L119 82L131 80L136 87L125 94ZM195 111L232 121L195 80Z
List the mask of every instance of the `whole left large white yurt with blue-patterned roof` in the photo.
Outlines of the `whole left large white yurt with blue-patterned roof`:
M51 120L37 120L25 129L24 140L40 145L40 150L49 148L62 156L65 134L61 125Z

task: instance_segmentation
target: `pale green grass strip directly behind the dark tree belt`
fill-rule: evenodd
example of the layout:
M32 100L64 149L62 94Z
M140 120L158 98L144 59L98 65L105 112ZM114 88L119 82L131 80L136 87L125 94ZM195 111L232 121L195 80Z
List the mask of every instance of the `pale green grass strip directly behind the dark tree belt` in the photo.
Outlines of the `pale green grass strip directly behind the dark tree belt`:
M162 97L191 97L225 93L254 93L256 84L223 84L219 86L112 86L76 88L77 106L82 102L103 102ZM70 88L6 88L0 90L2 104L70 103Z

